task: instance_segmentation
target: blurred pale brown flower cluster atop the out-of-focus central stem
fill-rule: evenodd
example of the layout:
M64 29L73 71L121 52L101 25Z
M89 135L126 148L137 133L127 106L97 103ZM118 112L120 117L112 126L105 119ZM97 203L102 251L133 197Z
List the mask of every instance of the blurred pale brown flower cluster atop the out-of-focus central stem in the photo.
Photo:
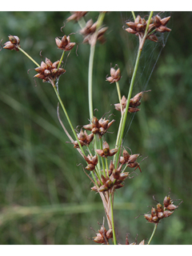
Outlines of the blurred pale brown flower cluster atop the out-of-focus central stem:
M92 19L86 22L86 26L82 30L80 30L80 33L84 36L83 42L89 42L90 45L94 45L97 39L100 42L105 42L103 34L106 33L106 30L108 29L108 27L99 28L98 33L95 35L94 33L97 29L97 25L98 25L98 22L93 22Z

